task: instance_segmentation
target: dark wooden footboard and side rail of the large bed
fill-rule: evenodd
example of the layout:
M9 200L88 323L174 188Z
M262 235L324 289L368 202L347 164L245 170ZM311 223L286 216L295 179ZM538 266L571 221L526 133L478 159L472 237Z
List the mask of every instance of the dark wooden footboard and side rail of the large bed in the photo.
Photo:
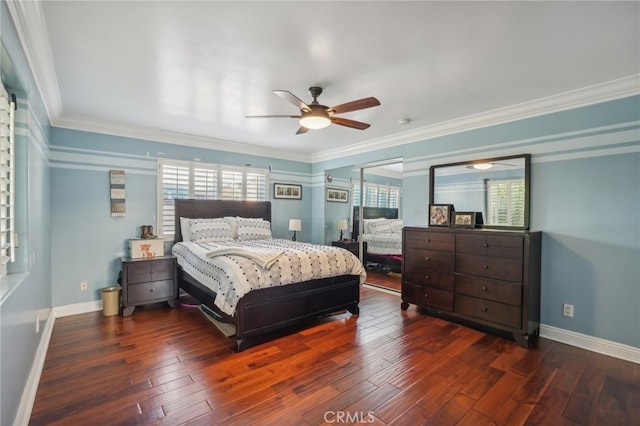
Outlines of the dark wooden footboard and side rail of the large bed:
M360 278L342 275L254 290L242 297L235 316L226 315L213 304L215 293L178 268L180 288L211 308L224 322L236 327L234 350L251 346L253 337L316 318L340 309L358 315Z

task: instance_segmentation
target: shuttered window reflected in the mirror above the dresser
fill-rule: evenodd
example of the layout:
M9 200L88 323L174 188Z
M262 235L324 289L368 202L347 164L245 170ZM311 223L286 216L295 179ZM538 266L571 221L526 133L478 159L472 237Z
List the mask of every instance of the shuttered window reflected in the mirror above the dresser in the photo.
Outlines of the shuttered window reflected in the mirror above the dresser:
M487 186L487 225L524 226L524 180L493 179Z

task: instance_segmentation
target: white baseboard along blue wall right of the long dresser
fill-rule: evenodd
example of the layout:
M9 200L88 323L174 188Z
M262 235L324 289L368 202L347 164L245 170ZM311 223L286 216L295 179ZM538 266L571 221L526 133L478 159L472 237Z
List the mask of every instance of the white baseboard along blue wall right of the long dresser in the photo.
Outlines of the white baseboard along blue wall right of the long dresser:
M640 348L540 324L540 336L588 351L640 364Z

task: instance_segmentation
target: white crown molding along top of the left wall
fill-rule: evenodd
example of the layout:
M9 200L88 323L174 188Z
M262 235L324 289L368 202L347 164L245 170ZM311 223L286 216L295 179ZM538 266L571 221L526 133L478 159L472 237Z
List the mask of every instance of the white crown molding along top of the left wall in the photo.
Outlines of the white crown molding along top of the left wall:
M49 122L53 123L62 116L62 98L53 65L53 54L42 3L16 0L7 0L5 3L16 27L36 87L42 96Z

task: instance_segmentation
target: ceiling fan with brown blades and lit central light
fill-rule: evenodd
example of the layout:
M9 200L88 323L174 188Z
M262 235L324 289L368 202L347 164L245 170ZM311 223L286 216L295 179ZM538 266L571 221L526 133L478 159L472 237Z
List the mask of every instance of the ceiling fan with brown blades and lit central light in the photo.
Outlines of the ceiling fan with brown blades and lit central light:
M298 107L300 109L300 115L248 115L246 116L246 118L299 118L300 128L296 132L296 135L306 133L309 130L324 129L331 123L338 124L340 126L351 127L352 129L364 130L369 128L371 125L363 123L361 121L336 117L335 115L380 105L379 100L373 97L369 97L358 99L357 101L347 102L345 104L337 105L334 107L327 107L318 103L318 96L320 96L320 94L322 93L322 87L310 87L309 92L311 92L313 101L307 105L300 98L289 91L273 91L273 93L280 96L282 99L289 101L296 107Z

